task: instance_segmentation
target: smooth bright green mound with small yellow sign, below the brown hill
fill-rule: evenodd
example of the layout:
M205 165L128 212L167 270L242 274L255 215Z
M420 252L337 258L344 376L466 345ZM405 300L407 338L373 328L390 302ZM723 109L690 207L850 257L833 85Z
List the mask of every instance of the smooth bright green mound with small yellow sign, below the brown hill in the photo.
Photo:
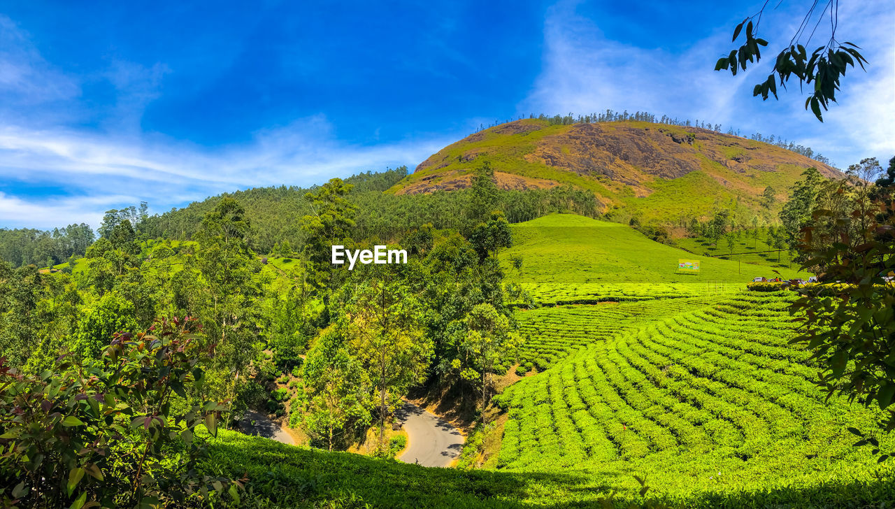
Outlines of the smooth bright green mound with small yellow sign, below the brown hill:
M744 289L767 267L697 256L654 242L634 228L570 214L510 226L514 245L500 254L507 281L541 303L633 301ZM698 275L678 273L679 259L699 259ZM514 261L521 260L516 268ZM807 277L780 267L784 277Z

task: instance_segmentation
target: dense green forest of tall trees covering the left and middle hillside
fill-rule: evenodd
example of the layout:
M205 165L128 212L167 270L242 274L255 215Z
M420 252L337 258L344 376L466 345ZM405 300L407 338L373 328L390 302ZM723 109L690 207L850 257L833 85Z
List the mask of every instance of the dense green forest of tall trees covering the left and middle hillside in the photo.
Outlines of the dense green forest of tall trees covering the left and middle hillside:
M38 381L41 373L106 373L113 338L167 330L152 340L161 343L147 340L146 348L155 352L168 348L169 340L194 341L192 375L187 370L183 376L198 385L177 382L174 396L152 392L159 380L170 381L157 373L161 378L149 386L116 396L119 406L139 407L132 398L168 402L152 416L204 404L206 418L229 428L247 408L283 415L288 401L290 423L311 444L345 449L378 428L376 454L389 454L386 424L410 387L437 386L473 406L487 404L491 374L506 371L519 343L496 259L512 239L493 173L484 167L468 192L429 202L455 208L444 220L452 227L432 225L426 209L417 208L407 212L406 223L362 218L363 207L407 206L407 200L379 191L404 172L333 179L306 191L234 193L164 216L110 211L98 241L68 270L48 273L0 260L0 370L14 369L38 385L46 383ZM374 202L373 194L385 201ZM258 211L252 218L251 207ZM191 224L192 217L197 220ZM164 238L175 228L185 240ZM161 238L153 238L157 233ZM349 270L329 260L333 244L392 242L411 253L406 264ZM270 258L261 256L270 250L276 251ZM191 324L201 324L200 334ZM118 344L124 350L116 355L136 355L125 346L132 343ZM182 369L169 361L166 369ZM287 389L276 388L276 379L287 374L295 378L285 398ZM203 403L209 401L227 404ZM90 412L90 405L85 408ZM209 413L212 408L217 410ZM209 428L211 423L206 420ZM143 428L125 434L146 440ZM167 445L153 441L152 429L145 427L149 443L162 454ZM30 487L43 503L55 505L67 496L45 469L72 454L104 470L123 461L121 451L104 451L60 445L43 466L22 465L21 473L32 476ZM158 463L146 473L164 477L167 468Z

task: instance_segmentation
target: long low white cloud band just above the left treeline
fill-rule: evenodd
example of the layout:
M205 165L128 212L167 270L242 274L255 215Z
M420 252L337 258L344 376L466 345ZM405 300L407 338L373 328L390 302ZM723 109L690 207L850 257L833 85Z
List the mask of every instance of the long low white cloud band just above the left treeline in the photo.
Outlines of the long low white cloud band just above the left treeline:
M212 150L162 137L115 138L5 126L0 128L0 179L64 184L76 195L91 198L0 197L0 225L47 228L79 217L90 218L89 224L96 227L108 208L145 200L152 211L161 212L224 191L307 186L332 176L413 165L450 141L359 146L334 140L330 131L318 116L260 132L251 143Z

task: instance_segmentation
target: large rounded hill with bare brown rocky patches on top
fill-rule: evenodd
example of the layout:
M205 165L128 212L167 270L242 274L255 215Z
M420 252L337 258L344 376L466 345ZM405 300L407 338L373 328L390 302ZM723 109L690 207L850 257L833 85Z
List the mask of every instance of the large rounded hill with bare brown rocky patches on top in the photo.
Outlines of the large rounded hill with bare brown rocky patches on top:
M622 216L663 224L708 216L716 206L749 212L751 218L765 211L760 198L768 186L779 202L805 168L840 174L785 148L697 127L526 119L442 148L390 191L462 189L483 161L490 161L501 188L571 185L593 191L603 212L624 208Z

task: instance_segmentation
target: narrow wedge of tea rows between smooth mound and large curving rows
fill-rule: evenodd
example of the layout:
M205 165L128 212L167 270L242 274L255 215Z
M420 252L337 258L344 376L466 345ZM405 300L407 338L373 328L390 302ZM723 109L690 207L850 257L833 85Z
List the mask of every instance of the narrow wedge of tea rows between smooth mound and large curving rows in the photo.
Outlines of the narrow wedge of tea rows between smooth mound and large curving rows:
M516 320L525 338L521 363L528 369L542 371L587 344L712 301L699 297L518 310Z

